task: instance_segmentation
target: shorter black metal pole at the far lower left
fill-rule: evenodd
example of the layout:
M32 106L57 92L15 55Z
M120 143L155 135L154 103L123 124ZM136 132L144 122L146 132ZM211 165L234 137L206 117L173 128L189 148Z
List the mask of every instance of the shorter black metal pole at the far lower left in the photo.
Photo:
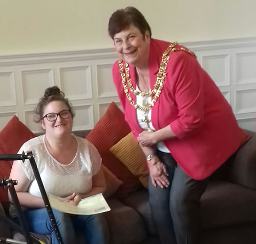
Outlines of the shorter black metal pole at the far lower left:
M23 214L22 207L20 207L18 197L17 197L17 193L16 193L15 188L14 188L14 185L17 184L17 181L13 181L12 179L7 179L6 184L7 184L7 187L9 189L14 207L17 211L19 224L22 227L22 231L23 231L23 234L25 236L25 240L28 244L33 244L33 241L31 239L31 236L30 236L30 233L29 233L28 224L27 224L25 216Z

